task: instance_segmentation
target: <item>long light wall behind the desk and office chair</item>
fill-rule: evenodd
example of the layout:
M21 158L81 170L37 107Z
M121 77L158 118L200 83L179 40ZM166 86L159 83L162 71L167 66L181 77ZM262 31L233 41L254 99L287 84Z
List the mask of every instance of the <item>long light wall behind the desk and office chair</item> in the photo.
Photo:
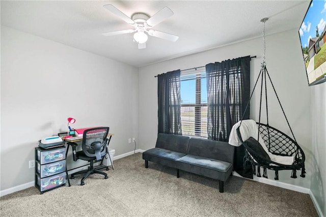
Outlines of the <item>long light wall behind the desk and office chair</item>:
M116 155L138 141L138 69L1 27L1 190L34 181L38 140L74 128L109 126Z

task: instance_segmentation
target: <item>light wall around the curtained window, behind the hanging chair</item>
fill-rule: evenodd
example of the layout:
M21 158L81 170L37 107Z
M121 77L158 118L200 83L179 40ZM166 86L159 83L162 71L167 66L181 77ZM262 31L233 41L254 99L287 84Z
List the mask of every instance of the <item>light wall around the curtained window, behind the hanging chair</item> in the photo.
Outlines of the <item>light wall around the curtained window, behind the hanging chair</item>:
M285 114L295 138L306 153L306 178L290 178L291 171L280 171L280 182L310 188L311 179L311 99L307 83L300 39L296 30L266 37L267 70L277 90ZM157 136L157 78L154 75L176 69L205 66L243 56L257 56L251 61L251 87L260 71L262 61L262 39L254 39L209 51L196 53L170 61L157 63L139 69L139 139L141 148L147 150L155 146ZM251 101L251 118L258 120L259 91ZM276 97L270 94L268 106L269 123L284 132L286 120ZM300 175L300 173L298 174ZM269 171L269 179L274 179L274 171Z

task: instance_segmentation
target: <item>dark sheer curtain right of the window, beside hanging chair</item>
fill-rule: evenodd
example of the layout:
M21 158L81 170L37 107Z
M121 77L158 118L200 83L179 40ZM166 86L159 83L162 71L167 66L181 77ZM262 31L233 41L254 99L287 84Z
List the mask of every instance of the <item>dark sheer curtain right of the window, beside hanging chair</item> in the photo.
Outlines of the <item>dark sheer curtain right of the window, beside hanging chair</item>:
M242 116L249 119L250 60L247 56L206 65L208 139L227 142L232 126ZM243 156L243 146L236 147L234 170L240 175L250 174L243 168Z

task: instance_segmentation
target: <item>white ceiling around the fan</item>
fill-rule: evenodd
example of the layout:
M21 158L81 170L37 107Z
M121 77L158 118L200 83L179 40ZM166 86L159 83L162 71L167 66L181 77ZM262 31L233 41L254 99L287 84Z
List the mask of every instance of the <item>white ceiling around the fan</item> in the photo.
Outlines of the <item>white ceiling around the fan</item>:
M310 1L1 1L1 24L132 66L182 57L192 53L299 29ZM138 49L132 34L101 33L132 29L103 8L112 4L131 17L150 16L169 7L174 15L153 29L178 35L176 42L149 36Z

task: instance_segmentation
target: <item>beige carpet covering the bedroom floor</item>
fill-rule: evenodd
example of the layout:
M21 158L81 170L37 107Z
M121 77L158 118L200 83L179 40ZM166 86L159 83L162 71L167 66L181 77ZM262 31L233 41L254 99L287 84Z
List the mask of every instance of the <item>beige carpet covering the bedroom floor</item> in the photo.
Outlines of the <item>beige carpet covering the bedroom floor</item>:
M109 178L82 176L40 195L36 187L0 198L1 216L318 216L308 194L232 176L218 181L149 162L114 161ZM105 170L104 170L105 171Z

